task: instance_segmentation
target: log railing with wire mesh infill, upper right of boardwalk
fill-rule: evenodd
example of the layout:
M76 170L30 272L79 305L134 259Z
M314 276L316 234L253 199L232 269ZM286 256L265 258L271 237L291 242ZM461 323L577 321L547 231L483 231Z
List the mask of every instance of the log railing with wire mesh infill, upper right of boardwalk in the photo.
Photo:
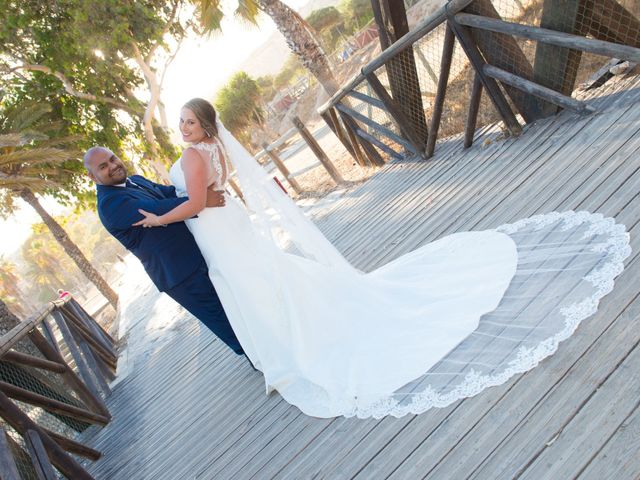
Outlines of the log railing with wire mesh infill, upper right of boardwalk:
M640 63L640 22L633 2L514 1L450 0L362 67L320 114L361 164L429 158L439 135L464 132L463 146L471 146L483 93L493 110L484 115L484 123L487 118L502 121L506 131L518 135L521 122L560 109L594 111L571 96L582 54L605 57L602 63L609 58ZM516 9L517 15L509 15ZM603 15L608 17L604 23ZM526 49L523 42L528 42ZM414 57L405 75L407 53ZM415 96L416 88L407 86L403 92L402 82L418 82L422 98L408 102L404 96ZM445 111L452 95L457 103ZM411 108L423 104L420 113L428 121L416 122Z

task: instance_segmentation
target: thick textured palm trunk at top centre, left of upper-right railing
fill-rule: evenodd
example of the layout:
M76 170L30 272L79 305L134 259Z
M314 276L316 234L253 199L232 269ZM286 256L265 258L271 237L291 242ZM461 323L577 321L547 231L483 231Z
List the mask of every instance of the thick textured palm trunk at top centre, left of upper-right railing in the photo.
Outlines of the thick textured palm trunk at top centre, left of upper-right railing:
M338 82L331 71L329 59L308 24L280 0L258 0L260 10L269 15L287 42L287 45L322 85L329 96L338 90Z

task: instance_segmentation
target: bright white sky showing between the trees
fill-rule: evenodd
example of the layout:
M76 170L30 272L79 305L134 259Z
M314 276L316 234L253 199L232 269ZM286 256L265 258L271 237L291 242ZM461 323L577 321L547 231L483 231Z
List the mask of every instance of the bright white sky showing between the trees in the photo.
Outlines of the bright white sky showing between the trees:
M298 9L308 0L286 0ZM211 99L237 67L276 31L271 19L261 17L259 28L247 26L233 18L234 1L223 1L225 18L223 33L211 38L188 38L165 75L162 98L167 109L169 126L175 129L180 107L193 97ZM53 215L63 212L55 201L44 200ZM40 217L26 204L9 220L0 219L0 255L17 250L31 233L31 225Z

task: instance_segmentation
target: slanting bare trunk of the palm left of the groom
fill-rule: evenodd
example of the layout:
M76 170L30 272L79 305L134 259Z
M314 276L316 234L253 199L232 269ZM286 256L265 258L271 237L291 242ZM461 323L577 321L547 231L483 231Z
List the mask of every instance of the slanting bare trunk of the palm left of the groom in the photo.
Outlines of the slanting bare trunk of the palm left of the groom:
M109 286L102 275L91 265L87 257L80 251L78 246L73 243L73 241L67 235L67 232L56 222L51 215L47 213L47 211L42 208L38 198L35 194L29 190L24 189L20 192L20 197L31 205L38 215L42 218L44 224L49 228L53 237L58 241L58 243L62 246L64 251L71 257L71 259L75 262L78 268L85 274L85 276L96 286L102 295L109 301L113 308L116 308L118 305L118 295L113 289Z

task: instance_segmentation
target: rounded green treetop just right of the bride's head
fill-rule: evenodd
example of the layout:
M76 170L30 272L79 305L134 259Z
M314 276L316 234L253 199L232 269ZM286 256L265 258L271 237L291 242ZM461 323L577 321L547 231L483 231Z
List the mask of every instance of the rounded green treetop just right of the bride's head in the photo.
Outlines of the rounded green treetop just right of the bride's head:
M242 137L247 127L264 120L259 101L258 82L246 72L238 72L218 92L214 104L222 123L234 135Z

